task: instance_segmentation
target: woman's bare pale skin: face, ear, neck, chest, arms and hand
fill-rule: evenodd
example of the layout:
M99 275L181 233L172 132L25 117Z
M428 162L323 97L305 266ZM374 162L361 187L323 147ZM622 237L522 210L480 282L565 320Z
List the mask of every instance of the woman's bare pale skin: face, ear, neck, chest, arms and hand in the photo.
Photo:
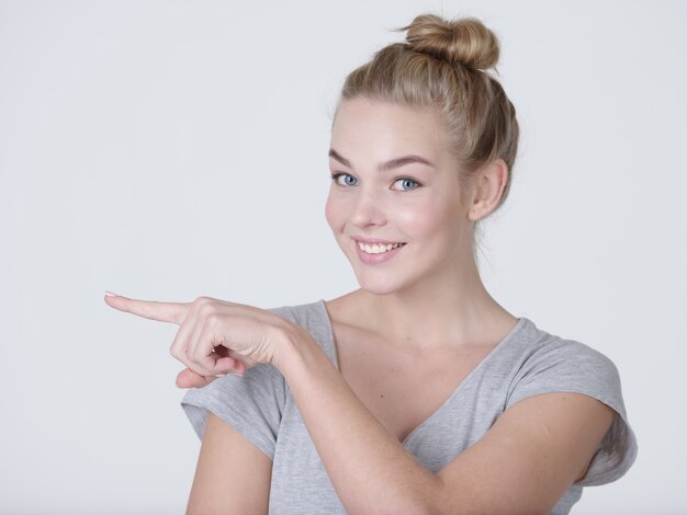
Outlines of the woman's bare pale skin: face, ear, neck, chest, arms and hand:
M331 149L330 171L344 175L333 181L327 221L360 284L326 302L338 369L304 329L260 308L209 297L105 301L180 327L171 353L188 367L181 388L277 367L349 513L548 513L612 423L615 412L590 397L517 402L438 473L402 445L518 321L484 288L471 248L474 221L503 194L506 164L489 163L462 192L433 114L362 100L339 110ZM432 164L378 170L407 154ZM351 237L406 244L370 264ZM188 513L266 513L270 477L271 460L210 413Z

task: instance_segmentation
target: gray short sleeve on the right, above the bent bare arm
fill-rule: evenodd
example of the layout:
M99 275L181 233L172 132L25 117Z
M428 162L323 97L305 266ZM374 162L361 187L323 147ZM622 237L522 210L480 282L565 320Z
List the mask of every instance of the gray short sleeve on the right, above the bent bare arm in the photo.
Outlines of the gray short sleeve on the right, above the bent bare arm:
M528 397L558 391L593 397L616 411L587 473L574 484L594 487L620 479L634 462L638 446L616 365L583 343L559 339L539 348L526 362L514 381L506 408Z

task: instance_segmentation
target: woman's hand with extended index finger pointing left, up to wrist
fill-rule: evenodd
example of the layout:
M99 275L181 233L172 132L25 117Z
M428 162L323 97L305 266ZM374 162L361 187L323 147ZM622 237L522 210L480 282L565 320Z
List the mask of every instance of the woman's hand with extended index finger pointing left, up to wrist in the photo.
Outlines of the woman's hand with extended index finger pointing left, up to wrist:
M105 295L105 304L180 325L170 350L188 367L177 376L180 388L203 387L218 376L243 375L259 363L274 363L280 343L293 329L291 322L270 311L211 297L157 302Z

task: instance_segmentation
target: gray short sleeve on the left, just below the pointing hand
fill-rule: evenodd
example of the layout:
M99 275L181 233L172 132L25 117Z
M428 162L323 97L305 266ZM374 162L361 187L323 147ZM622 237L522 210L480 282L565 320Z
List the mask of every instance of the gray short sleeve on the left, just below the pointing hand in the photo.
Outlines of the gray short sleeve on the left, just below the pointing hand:
M283 314L280 308L270 311ZM189 389L181 408L199 438L203 438L207 412L212 411L273 460L285 396L281 373L260 364L248 368L244 377L228 375L203 388Z

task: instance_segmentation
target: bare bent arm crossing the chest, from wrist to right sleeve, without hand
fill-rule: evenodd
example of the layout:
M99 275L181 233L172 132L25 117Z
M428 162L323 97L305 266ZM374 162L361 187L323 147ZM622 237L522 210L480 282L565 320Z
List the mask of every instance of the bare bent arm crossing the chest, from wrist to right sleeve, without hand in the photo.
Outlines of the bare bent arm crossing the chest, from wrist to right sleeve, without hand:
M534 396L435 474L372 415L305 330L283 341L273 364L352 514L548 513L613 420L613 410L588 396Z

